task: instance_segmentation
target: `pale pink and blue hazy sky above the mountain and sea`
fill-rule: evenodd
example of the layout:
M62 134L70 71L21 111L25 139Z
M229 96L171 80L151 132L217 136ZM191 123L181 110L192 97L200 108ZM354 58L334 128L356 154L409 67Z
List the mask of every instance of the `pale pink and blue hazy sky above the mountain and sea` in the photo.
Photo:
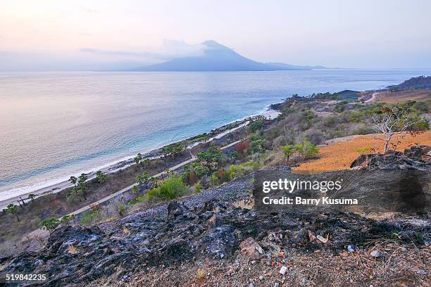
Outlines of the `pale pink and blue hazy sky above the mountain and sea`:
M262 62L431 68L427 0L0 0L0 7L0 70L154 63L199 54L207 39Z

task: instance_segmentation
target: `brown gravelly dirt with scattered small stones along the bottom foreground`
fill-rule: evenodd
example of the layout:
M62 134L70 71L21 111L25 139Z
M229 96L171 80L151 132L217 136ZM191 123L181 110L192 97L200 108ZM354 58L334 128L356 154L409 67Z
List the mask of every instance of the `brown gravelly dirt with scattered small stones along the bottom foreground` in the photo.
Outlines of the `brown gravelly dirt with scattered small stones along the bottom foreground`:
M376 245L374 245L376 244ZM380 250L380 257L370 253ZM104 278L91 286L430 286L430 248L373 243L352 253L292 249L282 260L197 260L175 267L142 267L142 272L118 280ZM285 276L281 266L287 267ZM115 278L116 277L116 278ZM121 277L120 277L121 278Z

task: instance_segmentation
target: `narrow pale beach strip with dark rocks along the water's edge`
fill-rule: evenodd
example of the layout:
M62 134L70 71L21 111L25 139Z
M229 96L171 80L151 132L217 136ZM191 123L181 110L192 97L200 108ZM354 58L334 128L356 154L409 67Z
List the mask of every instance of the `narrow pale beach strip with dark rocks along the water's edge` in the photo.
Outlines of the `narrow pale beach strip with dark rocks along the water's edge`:
M213 139L219 139L220 137L223 137L225 134L227 134L229 132L228 127L230 125L235 125L235 127L233 127L231 129L232 131L235 131L236 129L239 129L241 127L245 127L246 125L248 125L249 123L249 119L256 117L258 115L263 115L266 118L269 119L274 119L275 117L277 117L277 115L280 115L280 112L275 110L273 108L274 104L270 104L268 106L266 106L266 108L264 108L263 110L261 110L260 112L254 113L252 115L248 115L246 117L242 117L238 120L232 121L232 122L228 122L225 125L222 125L221 127L217 127L215 129L212 129L209 132L204 132L202 134L197 134L195 136L191 136L189 138L186 139L182 139L179 141L173 141L170 144L166 144L164 146L160 146L160 147L156 147L154 149L152 149L151 151L148 151L146 153L143 153L143 158L149 158L149 159L155 159L155 158L161 158L163 156L162 153L162 148L165 146L170 146L173 144L180 144L182 142L186 143L186 148L193 148L194 146L197 146L198 144L200 144L202 141L199 141L199 139L202 136L210 136L210 138L208 139L208 141L213 141ZM189 142L189 143L187 143ZM127 167L130 167L130 165L134 165L134 157L135 155L131 155L131 156L127 156L123 159L120 160L116 160L115 162L108 162L105 165L101 165L99 167L94 167L91 170L89 170L87 172L88 175L88 180L94 179L94 177L96 177L96 171L101 170L101 172L104 172L105 174L112 174L114 172L118 172L119 170L123 170ZM85 171L82 171L85 172ZM80 172L80 173L82 173ZM58 193L60 191L63 191L64 189L67 189L69 187L73 186L73 184L70 183L70 181L68 181L68 179L65 180L61 180L58 179L58 181L54 184L49 184L43 187L39 187L36 189L33 189L31 191L25 191L23 193L20 193L16 196L12 196L10 198L5 198L5 199L1 199L0 200L0 210L3 210L4 208L6 208L6 206L10 203L14 203L16 201L18 201L20 198L23 198L23 200L25 202L28 201L27 197L30 194L35 194L36 197L39 196L44 196L46 194L51 194L51 193Z

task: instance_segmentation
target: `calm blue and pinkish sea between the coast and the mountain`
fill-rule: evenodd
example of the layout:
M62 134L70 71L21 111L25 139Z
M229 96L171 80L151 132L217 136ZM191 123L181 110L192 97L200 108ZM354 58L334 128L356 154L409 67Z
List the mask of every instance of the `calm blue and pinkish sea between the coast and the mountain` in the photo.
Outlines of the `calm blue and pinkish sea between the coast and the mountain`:
M431 70L0 73L0 200L253 115L299 94Z

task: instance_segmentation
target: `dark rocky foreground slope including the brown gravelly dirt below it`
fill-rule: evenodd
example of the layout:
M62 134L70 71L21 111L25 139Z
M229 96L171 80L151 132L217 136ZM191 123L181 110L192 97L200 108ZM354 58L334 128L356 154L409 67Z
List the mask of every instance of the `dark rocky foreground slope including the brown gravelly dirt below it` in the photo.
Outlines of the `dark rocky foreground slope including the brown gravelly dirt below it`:
M431 259L423 219L258 212L250 179L105 224L60 227L39 252L3 258L2 272L49 272L42 286L384 286L399 277L418 286L425 279L416 273ZM394 232L399 237L380 240ZM400 249L387 268L383 258Z

